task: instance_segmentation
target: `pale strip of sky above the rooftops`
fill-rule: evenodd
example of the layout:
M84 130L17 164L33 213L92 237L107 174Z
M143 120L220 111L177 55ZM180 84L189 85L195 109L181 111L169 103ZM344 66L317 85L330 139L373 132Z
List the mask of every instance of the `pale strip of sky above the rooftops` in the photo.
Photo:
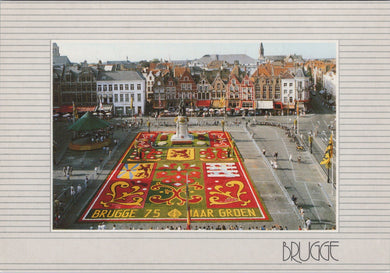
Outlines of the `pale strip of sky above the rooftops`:
M97 63L101 60L131 62L141 60L193 60L206 54L246 54L254 59L259 56L261 41L70 41L58 40L62 56L71 62ZM262 41L264 55L302 55L305 59L336 58L337 44L334 41Z

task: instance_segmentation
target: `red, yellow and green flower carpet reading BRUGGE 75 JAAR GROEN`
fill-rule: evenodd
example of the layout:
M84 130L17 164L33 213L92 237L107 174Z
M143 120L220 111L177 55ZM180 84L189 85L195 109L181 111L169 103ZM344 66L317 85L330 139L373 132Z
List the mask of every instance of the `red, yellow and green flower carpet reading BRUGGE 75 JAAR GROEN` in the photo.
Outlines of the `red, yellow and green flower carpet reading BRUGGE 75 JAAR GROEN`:
M229 133L140 132L80 217L95 221L271 220Z

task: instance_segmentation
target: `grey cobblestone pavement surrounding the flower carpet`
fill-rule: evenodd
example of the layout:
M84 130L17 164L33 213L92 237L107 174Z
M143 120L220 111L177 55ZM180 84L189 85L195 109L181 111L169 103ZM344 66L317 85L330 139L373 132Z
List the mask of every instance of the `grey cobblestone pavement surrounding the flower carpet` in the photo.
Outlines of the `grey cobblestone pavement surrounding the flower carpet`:
M222 118L190 118L190 130L221 130L219 121ZM303 227L303 217L299 208L304 210L304 218L312 221L312 229L330 229L335 226L336 194L331 184L326 183L326 176L320 169L318 162L307 151L297 152L295 143L282 128L276 126L250 126L253 118L227 118L226 130L229 131L243 158L246 168L252 177L253 183L265 202L273 219L272 222L227 222L227 223L193 223L193 228L216 229L218 225L225 225L228 229L259 229L265 225L270 229L274 225L296 230ZM263 117L257 117L264 120ZM125 122L125 119L113 119L114 125ZM173 118L160 120L150 119L151 130L174 131ZM114 138L118 144L110 146L111 153L103 150L78 152L67 149L71 140L71 133L66 131L67 122L54 123L54 140L57 143L55 155L56 164L53 170L53 199L64 201L66 211L60 219L57 228L65 229L96 229L97 224L77 222L81 213L104 182L110 170L115 166L120 156L130 145L139 131L146 131L146 118L139 128L121 128L114 130ZM247 126L248 125L248 126ZM266 149L264 156L262 150ZM278 152L278 168L272 168L273 153ZM289 161L289 155L293 161ZM297 156L302 162L297 162ZM64 176L63 167L71 165L73 173L69 181ZM95 167L98 171L95 172ZM85 177L88 176L88 187L85 187ZM81 192L72 200L70 186ZM297 197L295 205L291 196ZM106 223L107 229L170 229L184 228L183 223Z

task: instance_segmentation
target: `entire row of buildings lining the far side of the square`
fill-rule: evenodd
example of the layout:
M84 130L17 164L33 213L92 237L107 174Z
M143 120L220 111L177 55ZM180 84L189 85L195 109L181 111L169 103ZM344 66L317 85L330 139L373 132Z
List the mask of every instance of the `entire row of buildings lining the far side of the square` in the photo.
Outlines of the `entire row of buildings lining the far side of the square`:
M282 113L295 111L298 105L305 111L312 88L306 74L319 81L321 69L335 71L333 66L322 68L319 61L304 64L295 55L273 62L262 61L254 67L235 61L235 64L215 69L167 61L152 62L148 67L138 67L129 61L75 65L55 49L53 47L53 58L57 62L53 66L54 107L66 108L74 102L89 110L116 115L174 111L181 99L186 108L193 110ZM226 59L217 58L218 61ZM323 77L321 79L323 81Z

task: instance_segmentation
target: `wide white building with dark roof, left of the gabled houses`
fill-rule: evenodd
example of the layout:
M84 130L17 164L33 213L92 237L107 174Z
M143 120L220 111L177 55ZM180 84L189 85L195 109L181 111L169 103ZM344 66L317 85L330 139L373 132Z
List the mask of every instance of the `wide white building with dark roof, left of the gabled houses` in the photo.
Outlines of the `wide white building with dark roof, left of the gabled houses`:
M98 100L102 104L113 105L115 115L144 114L145 78L140 73L104 72L99 76L96 85Z

